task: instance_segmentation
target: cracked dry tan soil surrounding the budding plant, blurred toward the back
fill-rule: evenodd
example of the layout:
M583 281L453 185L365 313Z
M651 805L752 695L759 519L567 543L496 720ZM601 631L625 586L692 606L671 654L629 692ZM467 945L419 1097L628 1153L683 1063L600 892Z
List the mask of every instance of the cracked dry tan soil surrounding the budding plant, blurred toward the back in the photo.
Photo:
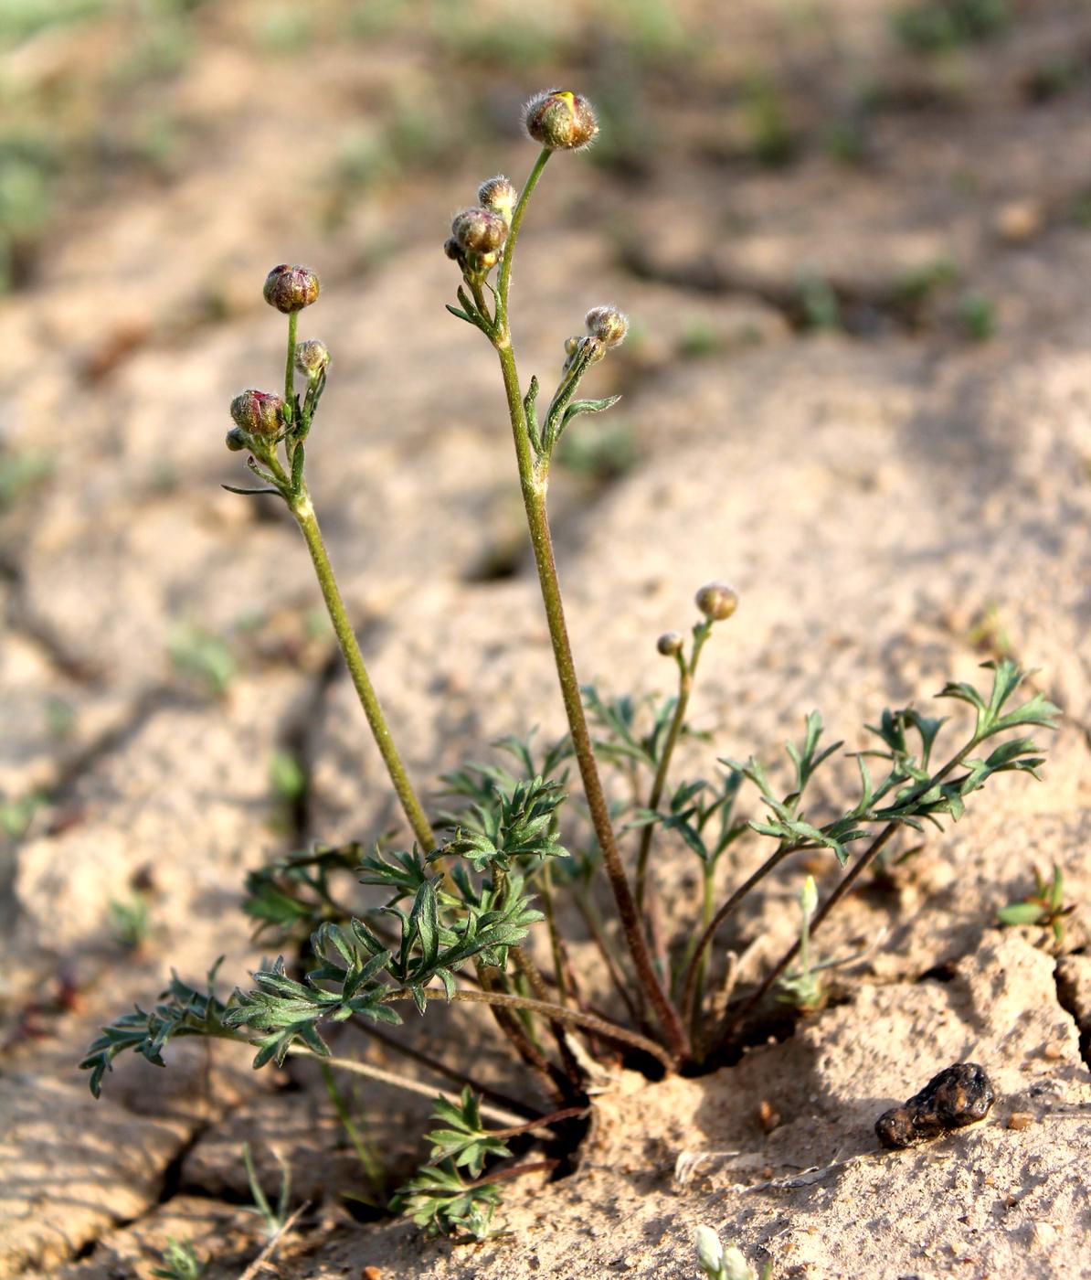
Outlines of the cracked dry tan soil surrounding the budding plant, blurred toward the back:
M590 392L624 399L553 485L581 675L664 691L656 635L725 577L700 769L773 758L812 707L859 748L1001 654L1065 719L1041 786L1001 781L831 922L829 954L879 943L839 1007L703 1080L627 1076L583 1171L521 1185L515 1234L459 1251L353 1221L359 1166L306 1070L191 1042L168 1071L119 1062L96 1105L74 1064L171 968L246 980L247 869L398 823L286 513L220 488L246 483L232 396L283 367L275 262L322 279L308 474L412 772L560 731L499 376L443 308L441 252L477 182L526 174L519 109L554 83L602 129L527 219L524 380L588 306L632 317ZM0 0L0 1276L148 1276L168 1238L239 1274L263 1243L247 1138L312 1206L281 1275L682 1277L697 1221L776 1276L1091 1275L1087 1125L1060 1119L1091 1039L1088 109L1083 0ZM663 849L687 929L696 868ZM1059 956L995 928L1053 863ZM801 874L724 946L775 955ZM421 1043L518 1089L469 1021L430 1015ZM1003 1116L968 1160L739 1193L863 1155L884 1106L990 1055ZM427 1103L352 1105L396 1179ZM742 1164L679 1185L684 1149Z

